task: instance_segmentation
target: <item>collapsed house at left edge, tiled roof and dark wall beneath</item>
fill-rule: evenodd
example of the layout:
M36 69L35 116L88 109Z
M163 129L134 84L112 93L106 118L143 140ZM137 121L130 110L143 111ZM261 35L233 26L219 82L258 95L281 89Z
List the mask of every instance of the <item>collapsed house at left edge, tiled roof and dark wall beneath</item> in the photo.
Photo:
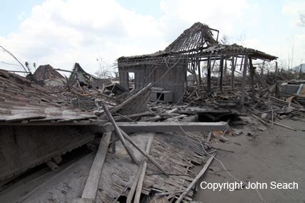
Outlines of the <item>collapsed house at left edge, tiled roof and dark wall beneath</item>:
M94 113L71 108L62 95L4 70L0 101L0 182L94 139L71 126L89 122Z

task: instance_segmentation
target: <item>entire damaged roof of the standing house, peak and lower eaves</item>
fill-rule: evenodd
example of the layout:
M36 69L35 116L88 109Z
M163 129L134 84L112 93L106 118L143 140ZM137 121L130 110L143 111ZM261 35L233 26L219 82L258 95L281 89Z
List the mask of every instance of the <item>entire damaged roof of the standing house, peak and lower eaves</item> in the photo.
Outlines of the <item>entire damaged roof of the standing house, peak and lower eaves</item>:
M217 30L209 28L206 24L197 22L181 33L164 51L139 56L122 56L118 58L118 61L121 66L134 66L151 63L151 61L154 61L154 63L163 63L164 56L177 55L179 58L203 58L220 55L249 54L252 58L259 58L266 61L272 61L277 58L276 56L271 56L254 48L239 46L236 43L232 45L220 44L217 41L218 38L214 38L213 31Z

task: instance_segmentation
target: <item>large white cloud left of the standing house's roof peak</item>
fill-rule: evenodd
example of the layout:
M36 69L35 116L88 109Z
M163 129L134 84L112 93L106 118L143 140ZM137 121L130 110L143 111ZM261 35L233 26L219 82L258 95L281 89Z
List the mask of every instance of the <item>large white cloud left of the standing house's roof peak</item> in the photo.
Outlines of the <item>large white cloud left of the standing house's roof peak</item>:
M0 44L21 61L65 69L79 62L94 73L99 55L112 63L119 56L157 51L162 38L159 21L116 1L54 0L34 6L19 32L0 36ZM6 53L0 58L14 62Z

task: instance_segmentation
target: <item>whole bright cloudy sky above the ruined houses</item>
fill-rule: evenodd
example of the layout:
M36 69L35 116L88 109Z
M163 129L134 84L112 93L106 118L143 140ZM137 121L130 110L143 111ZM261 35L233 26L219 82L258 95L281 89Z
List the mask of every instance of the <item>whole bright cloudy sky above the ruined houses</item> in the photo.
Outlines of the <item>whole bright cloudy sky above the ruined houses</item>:
M230 43L278 56L280 66L305 62L304 0L0 0L0 46L19 61L89 73L96 60L163 50L196 22L216 28ZM292 53L293 52L293 53ZM304 61L303 61L304 58ZM22 71L0 50L0 68Z

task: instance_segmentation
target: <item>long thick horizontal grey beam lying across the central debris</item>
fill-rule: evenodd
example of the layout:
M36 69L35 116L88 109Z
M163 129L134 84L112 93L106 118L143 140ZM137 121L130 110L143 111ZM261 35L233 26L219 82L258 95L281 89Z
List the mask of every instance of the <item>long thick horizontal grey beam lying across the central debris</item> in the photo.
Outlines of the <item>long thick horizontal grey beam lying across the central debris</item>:
M155 122L118 122L117 125L124 132L209 132L214 130L229 130L226 122L216 123L155 123ZM182 128L182 129L181 129Z

